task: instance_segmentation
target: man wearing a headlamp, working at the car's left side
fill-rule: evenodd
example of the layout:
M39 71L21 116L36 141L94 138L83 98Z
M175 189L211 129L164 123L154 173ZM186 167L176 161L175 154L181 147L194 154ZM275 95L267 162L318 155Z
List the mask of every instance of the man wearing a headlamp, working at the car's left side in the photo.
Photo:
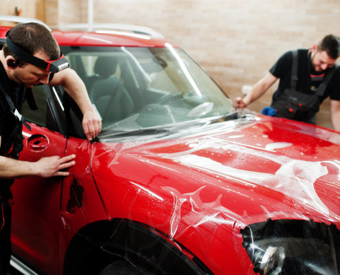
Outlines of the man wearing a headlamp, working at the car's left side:
M35 56L45 61L60 59L60 48L51 32L38 23L16 25L8 32L11 47L19 47L27 56ZM64 69L54 74L47 69L32 65L30 58L16 56L5 43L0 47L0 275L5 275L10 267L10 219L12 195L10 186L14 179L21 177L67 176L61 171L73 166L76 156L43 157L38 162L21 162L19 152L23 148L21 106L25 95L32 93L29 88L38 84L62 85L76 101L84 117L82 126L89 140L101 131L102 122L92 107L87 90L79 76L72 69ZM14 45L14 46L13 46ZM63 57L63 56L62 56ZM26 61L23 61L25 59ZM34 58L33 58L34 59ZM30 62L30 63L28 63ZM34 62L32 62L34 63ZM35 63L34 63L35 64ZM28 88L28 89L27 89ZM31 94L32 95L32 94Z

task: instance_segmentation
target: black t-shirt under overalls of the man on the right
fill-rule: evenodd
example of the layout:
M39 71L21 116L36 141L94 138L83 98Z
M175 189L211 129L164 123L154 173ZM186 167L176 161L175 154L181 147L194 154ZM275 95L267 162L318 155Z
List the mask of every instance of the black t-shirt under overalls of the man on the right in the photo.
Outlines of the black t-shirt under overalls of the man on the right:
M317 87L322 83L323 77L327 74L329 69L323 72L316 72L313 65L311 65L308 50L297 50L299 61L297 65L297 81L296 90L304 94L315 94ZM293 53L286 52L269 70L273 76L280 78L280 84L273 94L273 101L275 101L284 90L291 87L291 74L293 65ZM337 68L334 76L327 85L324 96L319 97L320 103L330 96L331 100L340 100L340 67Z

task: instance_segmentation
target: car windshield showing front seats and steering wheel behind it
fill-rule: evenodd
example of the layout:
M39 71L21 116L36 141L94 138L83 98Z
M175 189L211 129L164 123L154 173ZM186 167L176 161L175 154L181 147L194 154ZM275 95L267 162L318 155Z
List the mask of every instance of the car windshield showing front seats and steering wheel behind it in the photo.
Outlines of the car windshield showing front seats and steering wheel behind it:
M102 117L103 132L131 131L234 111L212 78L168 47L61 47ZM105 131L106 130L106 131Z

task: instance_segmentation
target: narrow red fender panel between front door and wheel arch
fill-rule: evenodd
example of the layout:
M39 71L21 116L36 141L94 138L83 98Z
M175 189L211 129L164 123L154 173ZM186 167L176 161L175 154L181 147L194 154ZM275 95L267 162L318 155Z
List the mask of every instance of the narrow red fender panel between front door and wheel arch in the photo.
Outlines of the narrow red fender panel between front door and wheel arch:
M69 168L70 175L63 180L59 235L61 259L64 259L74 234L84 225L108 219L91 175L91 147L88 140L70 137L67 141L65 155L75 154L76 165ZM63 263L60 261L60 270L63 270Z

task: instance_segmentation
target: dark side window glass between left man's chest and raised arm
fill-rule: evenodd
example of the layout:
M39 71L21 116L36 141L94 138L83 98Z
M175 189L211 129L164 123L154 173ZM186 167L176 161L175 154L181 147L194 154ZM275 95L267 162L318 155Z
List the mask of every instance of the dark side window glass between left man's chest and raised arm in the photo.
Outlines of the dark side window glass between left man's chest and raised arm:
M47 117L47 96L44 85L38 85L32 88L34 100L38 110L32 111L27 103L27 100L23 102L22 114L27 122L33 122L38 126L46 126Z

